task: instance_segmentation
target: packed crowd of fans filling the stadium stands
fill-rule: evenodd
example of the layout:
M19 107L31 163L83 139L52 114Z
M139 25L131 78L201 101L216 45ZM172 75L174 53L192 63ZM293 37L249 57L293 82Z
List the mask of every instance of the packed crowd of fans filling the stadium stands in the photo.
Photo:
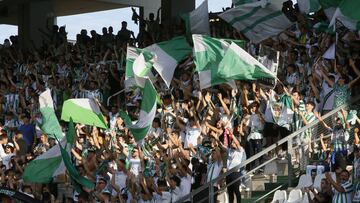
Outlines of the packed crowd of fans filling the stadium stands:
M359 94L359 33L342 30L338 34L335 63L322 57L336 41L335 33L314 26L326 19L324 14L317 12L307 18L292 4L283 10L296 21L295 26L261 45L247 43L247 50L255 57L260 46L280 52L277 77L281 82L272 88L262 81L236 81L238 89L223 84L200 90L189 55L177 67L171 89L161 79L154 84L162 102L141 144L135 142L119 114L120 109L126 110L136 120L141 92L126 90L112 97L110 103L108 99L125 88L127 46L144 48L182 35L182 24L165 28L159 13L141 19L134 11L134 19L140 22L137 36L122 22L117 34L112 27L104 27L102 34L92 30L90 36L81 30L74 44L67 41L65 27L58 26L53 26L50 34L44 32L44 43L38 48L24 49L17 36L6 39L0 48L1 186L42 202L176 202L264 147L320 120L331 138L313 137L306 131L297 140L305 151L299 153L297 161L321 154L324 171L334 171L337 176L332 179L326 175L320 193L309 189L316 194L312 201L330 202L334 197L332 202L337 203L345 196L348 202L359 202L360 120L349 123L347 119L357 112L341 110L330 124L321 119ZM244 39L225 22L211 25L211 34ZM270 55L265 57L263 63L275 63ZM63 102L70 98L91 98L101 104L109 130L77 124L71 151L79 173L96 184L94 190L74 191L66 174L47 184L22 181L27 163L56 145L38 124L39 94L46 89L51 90L58 115ZM294 117L282 115L286 105L295 112ZM67 125L60 123L65 132ZM316 138L321 140L312 143ZM285 145L282 148L274 152L280 158L286 151ZM265 159L231 173L214 185L215 190ZM301 165L304 172L308 164ZM347 164L353 164L352 171L346 170ZM240 202L239 187L244 186L237 181L227 188L229 202L234 196ZM212 197L203 192L194 201L203 198Z

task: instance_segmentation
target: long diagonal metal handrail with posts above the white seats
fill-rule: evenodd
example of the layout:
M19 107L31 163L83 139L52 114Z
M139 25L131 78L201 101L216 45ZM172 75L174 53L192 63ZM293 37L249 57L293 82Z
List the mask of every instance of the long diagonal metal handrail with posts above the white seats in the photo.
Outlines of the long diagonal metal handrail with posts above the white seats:
M346 107L348 107L349 105L353 104L354 102L358 101L360 99L360 95L351 99L350 102L343 104L335 109L333 109L332 111L328 112L326 115L322 116L322 120L325 120L331 116L333 116L335 113L337 113L338 111L340 111L341 109L344 109ZM291 163L291 151L293 150L292 147L292 142L293 139L296 138L297 136L300 136L302 133L304 133L306 130L316 126L317 124L319 124L320 121L319 120L315 120L313 122L311 122L310 124L300 128L299 130L297 130L296 132L291 133L290 135L288 135L287 137L282 138L281 140L279 140L278 142L272 144L271 146L267 147L266 149L263 149L261 152L255 154L254 156L251 156L249 159L246 159L244 162L242 162L241 164L239 164L238 166L235 166L234 168L232 168L231 170L221 174L220 176L218 176L217 178L215 178L214 180L210 180L210 182L204 184L203 186L197 188L196 190L194 190L193 192L191 192L190 194L182 197L180 200L178 200L177 202L183 202L187 199L192 200L193 196L199 194L201 191L205 190L206 188L209 188L210 191L210 196L212 197L212 186L214 185L216 182L224 179L226 176L230 175L233 172L237 172L239 171L240 168L246 167L248 164L250 164L251 162L257 160L258 158L264 156L265 154L269 153L270 151L276 149L278 146L288 143L288 150L287 150L287 155L288 155L288 170L289 170L289 175L292 174L292 163ZM313 142L313 141L312 141ZM260 167L259 167L260 168ZM291 185L291 178L289 178L289 185ZM227 186L226 186L227 187ZM209 201L210 203L213 203L213 198L209 197Z

